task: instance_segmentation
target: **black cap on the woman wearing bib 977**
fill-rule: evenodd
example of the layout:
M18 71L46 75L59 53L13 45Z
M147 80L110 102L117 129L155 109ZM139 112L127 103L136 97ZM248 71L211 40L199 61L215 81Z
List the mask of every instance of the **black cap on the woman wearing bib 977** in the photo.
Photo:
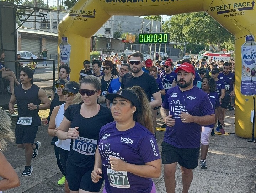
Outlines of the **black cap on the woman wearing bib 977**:
M136 106L136 108L139 108L140 106L140 101L138 100L136 93L131 89L121 89L118 90L116 94L105 95L105 98L110 100L111 102L113 102L114 98L117 97L121 97L131 101Z

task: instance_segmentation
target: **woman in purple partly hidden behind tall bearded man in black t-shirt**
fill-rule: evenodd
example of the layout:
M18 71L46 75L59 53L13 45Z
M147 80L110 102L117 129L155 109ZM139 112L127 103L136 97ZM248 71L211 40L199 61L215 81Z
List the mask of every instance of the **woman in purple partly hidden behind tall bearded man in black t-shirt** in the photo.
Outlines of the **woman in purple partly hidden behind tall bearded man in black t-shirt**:
M164 89L164 84L162 83L162 80L160 78L157 77L157 73L158 73L158 68L156 66L151 66L149 68L149 74L151 76L153 76L156 79L156 83L158 84L158 88L160 90L160 94L165 95L165 89ZM154 100L154 97L151 98L151 101ZM154 126L154 134L156 136L156 115L158 113L158 109L159 107L155 107L152 109L152 114L153 114L153 126Z

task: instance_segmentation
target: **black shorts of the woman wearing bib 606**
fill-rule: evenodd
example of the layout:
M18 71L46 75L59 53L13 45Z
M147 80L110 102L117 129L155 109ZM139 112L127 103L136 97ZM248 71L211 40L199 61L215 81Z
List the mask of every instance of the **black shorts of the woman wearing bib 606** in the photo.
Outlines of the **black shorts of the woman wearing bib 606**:
M69 184L69 189L79 191L79 189L89 192L99 192L104 181L102 178L97 183L92 182L91 173L94 167L79 167L72 164L70 161L66 163L66 180Z

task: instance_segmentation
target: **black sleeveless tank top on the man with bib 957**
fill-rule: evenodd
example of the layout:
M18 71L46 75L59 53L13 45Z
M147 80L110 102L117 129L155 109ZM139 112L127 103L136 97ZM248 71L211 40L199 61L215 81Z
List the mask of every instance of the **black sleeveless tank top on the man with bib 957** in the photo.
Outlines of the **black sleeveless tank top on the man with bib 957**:
M14 94L17 100L18 106L18 118L19 117L32 117L32 124L34 126L41 125L41 120L38 115L39 110L29 110L28 104L33 103L34 105L40 105L41 101L38 99L39 87L32 84L30 89L24 90L22 84L14 87ZM17 120L18 120L17 118Z

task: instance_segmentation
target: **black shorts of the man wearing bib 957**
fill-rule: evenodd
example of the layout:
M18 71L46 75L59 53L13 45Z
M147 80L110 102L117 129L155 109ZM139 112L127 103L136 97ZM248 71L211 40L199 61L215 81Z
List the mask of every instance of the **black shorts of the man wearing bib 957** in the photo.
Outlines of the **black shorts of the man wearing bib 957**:
M32 125L16 125L15 137L17 144L34 143L38 126Z

